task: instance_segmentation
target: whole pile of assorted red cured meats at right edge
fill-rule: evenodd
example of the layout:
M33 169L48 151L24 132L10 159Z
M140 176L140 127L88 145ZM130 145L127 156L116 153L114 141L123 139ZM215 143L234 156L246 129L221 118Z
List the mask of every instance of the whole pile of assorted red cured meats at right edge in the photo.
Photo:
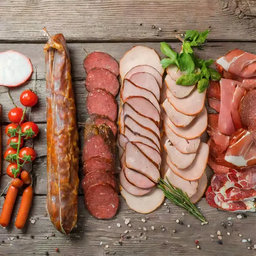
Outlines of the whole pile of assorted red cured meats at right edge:
M206 199L226 211L255 212L256 55L235 49L215 64L222 79L207 91L219 114L208 115L208 165L215 175Z

